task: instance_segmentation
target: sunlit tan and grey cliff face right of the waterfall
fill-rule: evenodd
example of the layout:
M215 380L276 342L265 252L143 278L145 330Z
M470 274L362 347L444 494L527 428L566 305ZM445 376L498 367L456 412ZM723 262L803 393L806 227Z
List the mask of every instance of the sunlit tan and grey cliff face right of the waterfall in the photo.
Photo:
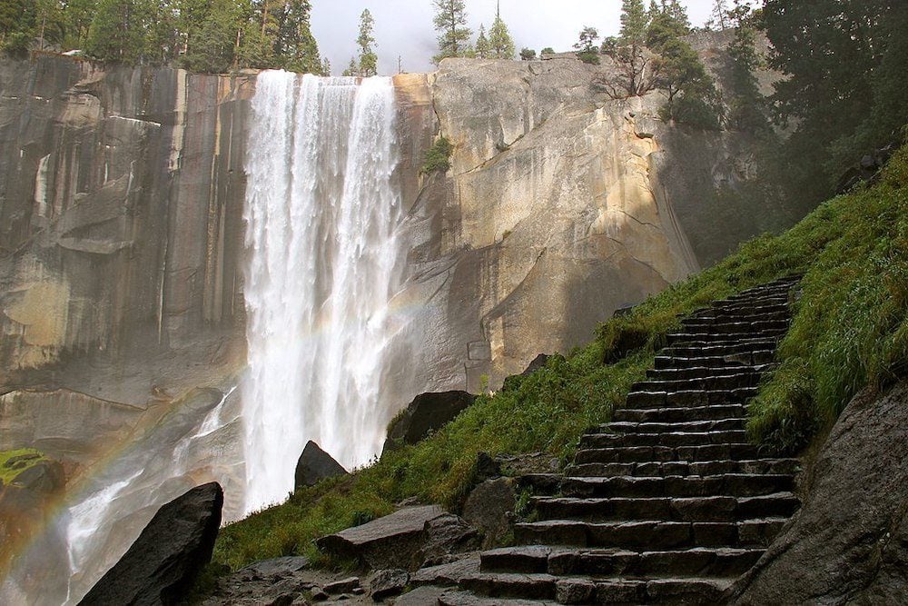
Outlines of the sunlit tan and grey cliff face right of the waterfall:
M716 41L697 44L722 67ZM414 292L441 344L436 382L494 387L540 352L587 342L617 308L794 222L777 204L717 196L755 178L748 136L665 124L657 91L610 99L596 85L609 70L446 60L428 78L399 76L410 135L424 141L434 123L454 145L451 170L423 177L411 213Z

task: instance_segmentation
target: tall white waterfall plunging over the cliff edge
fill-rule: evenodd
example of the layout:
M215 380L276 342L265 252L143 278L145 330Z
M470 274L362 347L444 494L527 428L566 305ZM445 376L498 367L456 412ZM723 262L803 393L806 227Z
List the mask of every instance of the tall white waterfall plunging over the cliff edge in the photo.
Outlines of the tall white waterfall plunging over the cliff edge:
M258 76L246 156L246 511L293 489L314 440L350 469L381 447L405 322L390 78ZM396 377L400 383L400 376Z

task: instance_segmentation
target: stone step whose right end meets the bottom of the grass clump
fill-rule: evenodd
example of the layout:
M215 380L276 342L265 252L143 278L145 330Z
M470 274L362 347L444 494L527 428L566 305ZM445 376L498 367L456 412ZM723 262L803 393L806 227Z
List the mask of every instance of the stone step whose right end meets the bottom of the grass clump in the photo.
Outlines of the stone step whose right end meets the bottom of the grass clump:
M574 455L577 465L586 463L666 462L666 461L743 461L759 459L760 451L754 444L706 444L700 446L617 446L615 448L590 448L578 450Z

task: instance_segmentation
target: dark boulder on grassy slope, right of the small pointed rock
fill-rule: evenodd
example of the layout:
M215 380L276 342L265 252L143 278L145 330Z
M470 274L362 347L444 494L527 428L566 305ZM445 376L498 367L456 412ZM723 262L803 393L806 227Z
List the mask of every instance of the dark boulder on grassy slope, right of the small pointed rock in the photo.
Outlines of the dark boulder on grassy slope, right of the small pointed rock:
M476 396L468 392L420 393L390 423L385 449L398 440L407 444L419 442L429 432L453 421L473 402L476 402Z

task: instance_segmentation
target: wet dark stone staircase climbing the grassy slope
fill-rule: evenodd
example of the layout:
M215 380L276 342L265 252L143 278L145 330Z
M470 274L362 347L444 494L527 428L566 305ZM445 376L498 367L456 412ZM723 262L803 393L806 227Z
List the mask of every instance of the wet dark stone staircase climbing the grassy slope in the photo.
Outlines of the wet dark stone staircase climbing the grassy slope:
M798 507L796 459L761 456L746 402L790 322L797 278L694 313L564 476L539 482L518 546L485 551L442 604L713 604Z

